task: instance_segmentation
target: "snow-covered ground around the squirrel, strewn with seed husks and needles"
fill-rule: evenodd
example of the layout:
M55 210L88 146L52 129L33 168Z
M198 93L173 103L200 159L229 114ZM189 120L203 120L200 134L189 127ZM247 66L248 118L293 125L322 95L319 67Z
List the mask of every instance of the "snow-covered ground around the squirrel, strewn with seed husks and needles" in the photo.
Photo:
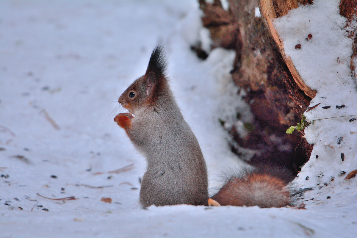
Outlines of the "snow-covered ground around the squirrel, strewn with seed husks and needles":
M314 2L319 6L323 1ZM330 15L337 12L333 2L329 1ZM355 235L357 178L338 176L340 170L357 169L357 135L350 133L357 131L357 121L348 122L350 118L323 120L305 130L309 142L316 143L312 156L320 156L310 160L303 176L296 179L297 187L314 187L305 194L314 198L304 202L306 209L140 208L139 177L145 161L113 117L122 111L117 107L118 95L144 74L151 50L160 40L167 46L173 91L205 155L210 187L219 186L216 179L222 170L244 164L230 152L218 122L231 110L223 101L227 97L239 101L229 96L234 91L229 84L234 52L216 49L201 61L190 51L200 35L197 9L195 0L0 2L0 237ZM313 18L309 22L314 27L325 23ZM327 31L342 35L338 29ZM308 33L313 41L306 44L320 49L317 32ZM350 46L345 36L341 39L345 47ZM301 54L308 53L304 49L302 44ZM322 57L325 52L317 54ZM337 52L339 77L332 72L332 61L321 64L318 70L329 72L316 87L310 84L318 90L311 105L331 105L332 116L357 114L355 81L347 69L349 52ZM335 104L346 107L335 110ZM306 113L308 120L331 116L323 110L317 107ZM339 137L343 141L337 145ZM338 157L341 152L344 162ZM127 171L109 173L125 166ZM320 171L325 176L317 177ZM320 190L317 183L323 186ZM37 193L77 199L50 200ZM102 202L102 197L112 202Z

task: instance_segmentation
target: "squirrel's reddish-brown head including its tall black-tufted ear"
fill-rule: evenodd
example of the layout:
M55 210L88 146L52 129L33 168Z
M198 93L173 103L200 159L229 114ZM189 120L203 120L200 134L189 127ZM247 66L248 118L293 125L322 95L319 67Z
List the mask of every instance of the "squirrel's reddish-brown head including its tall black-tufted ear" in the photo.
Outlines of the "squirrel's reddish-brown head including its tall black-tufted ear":
M165 95L167 59L164 47L157 45L151 53L145 75L135 80L119 97L118 102L130 113L155 104L157 97Z

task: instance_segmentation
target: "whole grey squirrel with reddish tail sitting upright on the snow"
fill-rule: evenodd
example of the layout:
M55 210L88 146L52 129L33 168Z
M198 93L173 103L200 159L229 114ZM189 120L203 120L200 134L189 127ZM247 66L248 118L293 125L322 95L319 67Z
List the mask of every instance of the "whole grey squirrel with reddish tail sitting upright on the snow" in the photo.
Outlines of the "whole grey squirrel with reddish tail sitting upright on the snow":
M287 169L267 165L231 176L209 197L206 162L170 89L167 64L164 46L157 45L145 74L118 99L129 113L114 118L147 161L141 205L291 205L290 174Z

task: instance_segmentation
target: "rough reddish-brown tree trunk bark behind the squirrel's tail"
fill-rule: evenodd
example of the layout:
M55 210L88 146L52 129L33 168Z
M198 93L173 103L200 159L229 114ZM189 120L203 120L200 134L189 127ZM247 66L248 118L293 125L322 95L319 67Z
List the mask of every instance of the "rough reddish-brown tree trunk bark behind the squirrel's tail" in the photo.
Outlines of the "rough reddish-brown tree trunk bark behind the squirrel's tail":
M272 1L270 5L275 17L298 6L297 1L289 1L287 5L282 2L285 0ZM252 164L281 164L299 171L310 157L312 146L300 133L287 135L285 132L300 122L300 115L314 96L313 91L296 82L280 53L283 47L277 45L262 18L255 17L257 0L230 0L228 11L222 9L219 1L213 4L201 1L200 4L203 25L210 30L215 42L212 47L236 51L232 77L236 85L247 92L245 100L255 116L248 136L239 135L233 127L232 137L240 147L258 151L250 160ZM281 150L282 145L285 150ZM286 150L287 147L290 150ZM232 150L241 153L239 147L232 146Z

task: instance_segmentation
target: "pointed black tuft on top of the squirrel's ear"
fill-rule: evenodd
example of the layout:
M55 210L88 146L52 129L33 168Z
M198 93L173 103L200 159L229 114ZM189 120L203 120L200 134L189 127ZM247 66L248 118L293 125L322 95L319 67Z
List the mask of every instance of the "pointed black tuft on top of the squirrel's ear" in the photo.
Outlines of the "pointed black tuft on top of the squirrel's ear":
M155 76L160 79L166 76L166 68L167 57L165 55L165 47L162 44L158 44L151 53L145 75L149 74L149 72L154 72Z

